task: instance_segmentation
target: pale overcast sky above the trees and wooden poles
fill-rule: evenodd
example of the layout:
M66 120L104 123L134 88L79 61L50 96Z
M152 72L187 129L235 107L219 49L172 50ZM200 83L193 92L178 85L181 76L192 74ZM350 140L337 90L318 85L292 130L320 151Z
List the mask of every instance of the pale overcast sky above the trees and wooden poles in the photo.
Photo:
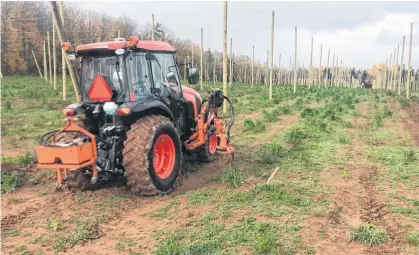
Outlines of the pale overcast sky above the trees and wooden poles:
M172 30L182 39L200 43L204 28L204 48L222 51L223 2L76 2L81 8L105 12L111 16L125 14L143 25L151 21ZM413 67L419 67L419 2L239 2L228 3L228 38L233 38L233 52L252 55L266 62L270 49L272 11L275 11L274 62L289 65L294 56L294 27L298 27L298 60L310 62L310 41L314 37L313 64L330 65L335 53L348 66L371 68L384 62L406 35L407 65L410 22L413 29ZM230 40L230 39L229 39ZM228 50L230 50L228 46ZM399 56L400 59L400 56Z

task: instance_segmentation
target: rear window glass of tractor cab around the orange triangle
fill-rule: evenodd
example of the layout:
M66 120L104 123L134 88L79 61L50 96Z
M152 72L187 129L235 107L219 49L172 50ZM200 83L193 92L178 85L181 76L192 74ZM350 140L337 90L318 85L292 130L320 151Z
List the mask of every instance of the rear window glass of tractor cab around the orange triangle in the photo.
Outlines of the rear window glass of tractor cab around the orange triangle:
M103 76L114 92L114 101L123 101L125 96L125 65L123 56L85 56L82 59L81 89L84 101L90 100L87 93L97 75ZM87 99L87 100L86 100Z

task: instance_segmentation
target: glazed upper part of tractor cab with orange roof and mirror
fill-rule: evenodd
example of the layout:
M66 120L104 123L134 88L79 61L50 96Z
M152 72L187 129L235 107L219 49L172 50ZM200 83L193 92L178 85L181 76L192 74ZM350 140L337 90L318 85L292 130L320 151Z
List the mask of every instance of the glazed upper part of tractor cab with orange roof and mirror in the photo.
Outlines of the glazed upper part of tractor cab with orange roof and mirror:
M175 50L165 42L140 41L133 36L129 41L117 38L67 52L69 59L80 58L79 89L83 102L128 102L153 94L163 98L168 93L182 94ZM188 81L196 84L198 71L190 66L187 71Z

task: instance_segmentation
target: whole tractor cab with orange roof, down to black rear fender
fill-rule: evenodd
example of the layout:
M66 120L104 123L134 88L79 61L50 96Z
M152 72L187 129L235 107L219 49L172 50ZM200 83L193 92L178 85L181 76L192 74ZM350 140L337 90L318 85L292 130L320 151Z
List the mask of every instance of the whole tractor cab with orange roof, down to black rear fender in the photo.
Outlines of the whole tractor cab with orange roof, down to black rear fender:
M80 61L78 96L82 104L114 102L120 115L157 111L172 119L181 134L190 134L193 120L188 116L197 115L196 105L202 99L194 90L182 89L178 67L185 64L177 62L169 44L132 36L128 41L117 38L73 51L69 44L63 48L69 59ZM190 84L198 82L196 68L188 66L187 74ZM136 118L123 119L132 122Z

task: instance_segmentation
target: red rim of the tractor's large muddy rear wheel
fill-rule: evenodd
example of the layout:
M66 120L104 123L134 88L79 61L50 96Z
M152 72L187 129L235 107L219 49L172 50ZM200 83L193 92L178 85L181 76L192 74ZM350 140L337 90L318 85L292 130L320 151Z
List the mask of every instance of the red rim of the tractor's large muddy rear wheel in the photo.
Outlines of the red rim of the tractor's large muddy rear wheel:
M176 152L172 138L166 134L160 135L154 144L153 166L157 176L166 179L175 167Z

